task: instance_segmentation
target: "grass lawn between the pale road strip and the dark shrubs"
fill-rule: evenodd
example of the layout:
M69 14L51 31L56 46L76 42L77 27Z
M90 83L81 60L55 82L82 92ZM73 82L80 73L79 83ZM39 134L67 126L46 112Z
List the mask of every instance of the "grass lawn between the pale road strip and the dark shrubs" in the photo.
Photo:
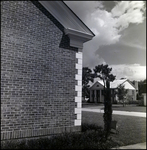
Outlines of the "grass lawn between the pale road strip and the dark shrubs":
M146 118L113 115L112 120L118 121L119 134L112 134L112 139L120 146L146 142ZM104 126L103 114L82 112L83 123Z

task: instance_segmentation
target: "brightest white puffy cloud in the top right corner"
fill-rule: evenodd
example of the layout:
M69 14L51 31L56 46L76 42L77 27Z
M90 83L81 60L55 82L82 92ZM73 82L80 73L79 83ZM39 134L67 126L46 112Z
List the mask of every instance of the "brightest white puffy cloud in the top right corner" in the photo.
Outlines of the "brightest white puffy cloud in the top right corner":
M130 23L142 23L145 17L145 2L121 1L111 10L112 17L116 18L115 27L119 32L129 26Z

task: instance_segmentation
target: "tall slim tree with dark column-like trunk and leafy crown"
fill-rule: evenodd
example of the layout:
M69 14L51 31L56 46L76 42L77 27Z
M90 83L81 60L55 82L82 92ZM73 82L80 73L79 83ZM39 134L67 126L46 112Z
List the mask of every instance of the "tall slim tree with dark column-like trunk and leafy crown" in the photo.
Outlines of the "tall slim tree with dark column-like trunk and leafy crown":
M105 140L107 140L110 135L111 130L111 121L112 121L112 103L111 103L111 91L110 91L110 82L115 80L113 74L111 74L112 68L106 65L98 65L93 69L95 78L100 78L104 83L104 133Z

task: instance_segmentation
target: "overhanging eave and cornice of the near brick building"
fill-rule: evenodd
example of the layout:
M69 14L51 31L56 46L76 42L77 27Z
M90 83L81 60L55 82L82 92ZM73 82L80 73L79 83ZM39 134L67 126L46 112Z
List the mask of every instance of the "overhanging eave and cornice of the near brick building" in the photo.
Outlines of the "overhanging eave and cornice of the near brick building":
M64 27L64 32L72 40L78 38L82 44L91 40L95 34L82 22L82 20L63 1L39 1ZM74 46L71 41L71 46ZM81 46L82 47L82 46Z

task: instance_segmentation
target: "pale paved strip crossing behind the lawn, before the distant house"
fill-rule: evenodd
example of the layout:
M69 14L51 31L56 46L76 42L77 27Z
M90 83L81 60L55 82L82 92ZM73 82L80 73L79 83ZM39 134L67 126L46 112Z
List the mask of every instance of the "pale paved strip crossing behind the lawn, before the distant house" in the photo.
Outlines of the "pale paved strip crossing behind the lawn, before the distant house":
M97 113L104 113L104 110L101 108L82 108L82 111L89 111L89 112L97 112ZM117 111L113 110L112 114L114 115L125 115L125 116L136 116L136 117L146 117L146 113L143 112L130 112L130 111Z

